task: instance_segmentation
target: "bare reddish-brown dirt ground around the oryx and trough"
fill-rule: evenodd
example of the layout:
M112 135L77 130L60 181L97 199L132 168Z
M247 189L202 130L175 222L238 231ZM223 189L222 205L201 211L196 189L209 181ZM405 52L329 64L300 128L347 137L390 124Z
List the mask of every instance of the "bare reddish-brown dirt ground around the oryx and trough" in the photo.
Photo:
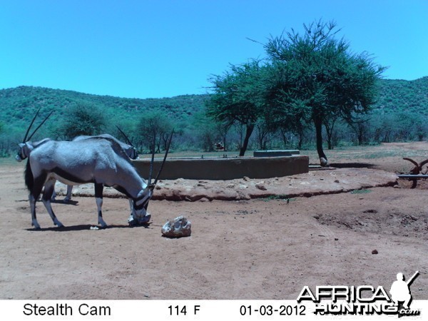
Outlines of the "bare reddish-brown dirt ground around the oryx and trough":
M340 166L350 163L343 156L334 161L349 167ZM93 198L54 204L67 226L61 230L38 203L39 231L31 228L24 164L0 165L0 299L295 299L304 285L389 290L397 272L410 276L416 270L414 300L428 299L428 191L424 184L372 188L391 185L397 162L409 164L397 157L370 162L371 169L311 171L263 183L164 181L156 190L164 198L191 199L203 191L207 197L152 200L146 227L128 228L122 198L105 198L106 230L90 230ZM210 197L225 188L238 195L235 200ZM365 190L350 193L359 188ZM192 222L192 235L163 238L161 226L178 215Z

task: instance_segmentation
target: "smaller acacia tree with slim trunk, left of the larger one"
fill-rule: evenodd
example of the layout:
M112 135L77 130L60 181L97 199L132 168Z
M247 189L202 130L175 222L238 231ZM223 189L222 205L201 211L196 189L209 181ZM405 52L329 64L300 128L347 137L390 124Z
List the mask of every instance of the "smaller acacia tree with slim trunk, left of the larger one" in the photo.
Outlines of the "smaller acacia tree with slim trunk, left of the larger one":
M234 123L245 126L240 156L244 156L255 124L263 116L264 76L265 66L253 60L238 66L231 65L230 71L209 79L213 83L214 94L207 103L208 116L228 126Z

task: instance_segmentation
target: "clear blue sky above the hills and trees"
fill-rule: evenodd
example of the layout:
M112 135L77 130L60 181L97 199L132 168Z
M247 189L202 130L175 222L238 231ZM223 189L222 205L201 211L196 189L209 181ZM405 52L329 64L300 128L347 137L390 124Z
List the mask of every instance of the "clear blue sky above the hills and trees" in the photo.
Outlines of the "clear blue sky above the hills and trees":
M428 76L428 0L0 0L0 89L206 93L229 63L265 56L248 38L318 19L389 66L384 78Z

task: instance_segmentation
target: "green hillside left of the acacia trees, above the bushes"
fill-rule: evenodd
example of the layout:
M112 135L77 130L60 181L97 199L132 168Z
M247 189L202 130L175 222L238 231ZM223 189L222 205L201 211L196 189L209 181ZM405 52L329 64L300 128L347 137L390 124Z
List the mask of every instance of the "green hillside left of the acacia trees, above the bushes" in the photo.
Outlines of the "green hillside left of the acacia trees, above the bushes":
M143 113L158 109L168 118L185 121L203 108L205 95L185 95L172 98L118 98L98 96L76 91L21 86L0 90L0 119L9 125L28 124L41 108L41 113L54 110L53 119L61 118L74 105L95 106L119 125L129 118L138 118Z

